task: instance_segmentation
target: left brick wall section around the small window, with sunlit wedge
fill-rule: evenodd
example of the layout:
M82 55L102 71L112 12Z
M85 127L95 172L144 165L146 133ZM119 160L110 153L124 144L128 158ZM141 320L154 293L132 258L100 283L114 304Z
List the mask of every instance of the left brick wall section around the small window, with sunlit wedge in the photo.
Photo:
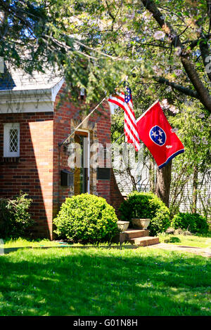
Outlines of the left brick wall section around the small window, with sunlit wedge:
M16 163L3 158L4 123L20 123L20 158ZM53 113L1 114L0 141L0 196L27 192L36 220L33 235L52 237Z

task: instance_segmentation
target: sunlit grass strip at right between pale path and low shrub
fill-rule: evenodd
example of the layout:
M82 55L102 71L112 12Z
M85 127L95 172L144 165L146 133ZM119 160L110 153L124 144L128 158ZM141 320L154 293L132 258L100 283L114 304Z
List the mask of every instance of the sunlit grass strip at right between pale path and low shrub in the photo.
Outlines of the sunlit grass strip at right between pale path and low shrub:
M201 248L211 248L211 238L196 235L159 235L160 243L170 243L181 246L196 246Z

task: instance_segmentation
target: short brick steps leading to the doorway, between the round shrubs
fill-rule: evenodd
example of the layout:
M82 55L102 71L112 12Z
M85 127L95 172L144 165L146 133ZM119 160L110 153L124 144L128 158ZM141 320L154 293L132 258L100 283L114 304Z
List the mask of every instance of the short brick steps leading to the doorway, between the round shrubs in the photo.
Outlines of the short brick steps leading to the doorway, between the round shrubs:
M128 229L124 232L125 241L137 246L159 244L159 237L150 237L149 230Z

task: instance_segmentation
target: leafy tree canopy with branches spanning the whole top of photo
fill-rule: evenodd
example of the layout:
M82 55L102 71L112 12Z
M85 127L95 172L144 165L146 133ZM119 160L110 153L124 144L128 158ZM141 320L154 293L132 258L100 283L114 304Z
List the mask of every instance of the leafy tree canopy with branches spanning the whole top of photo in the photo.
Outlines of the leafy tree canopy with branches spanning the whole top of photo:
M137 102L144 90L211 112L209 0L3 0L0 11L0 56L28 72L47 62L75 100L84 88L98 103L128 75Z

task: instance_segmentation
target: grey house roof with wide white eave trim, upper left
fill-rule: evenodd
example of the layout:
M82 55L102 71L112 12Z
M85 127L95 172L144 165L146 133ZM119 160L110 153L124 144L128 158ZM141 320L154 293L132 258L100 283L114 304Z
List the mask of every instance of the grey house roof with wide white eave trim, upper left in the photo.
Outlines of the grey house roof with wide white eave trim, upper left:
M27 74L5 65L4 73L0 74L0 114L53 111L63 82L63 75L56 70Z

